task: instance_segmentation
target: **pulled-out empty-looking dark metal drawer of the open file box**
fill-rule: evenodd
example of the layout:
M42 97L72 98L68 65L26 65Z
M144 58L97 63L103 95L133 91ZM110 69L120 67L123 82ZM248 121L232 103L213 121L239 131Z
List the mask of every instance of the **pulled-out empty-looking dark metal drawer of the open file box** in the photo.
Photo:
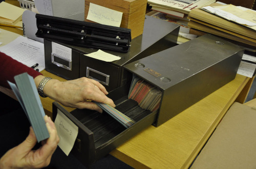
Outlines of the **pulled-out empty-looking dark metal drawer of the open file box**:
M121 87L120 90L127 91L126 89L126 87ZM113 91L110 96L116 96L117 93L120 93L118 89ZM86 166L90 166L96 160L110 153L156 120L156 112L140 108L136 101L127 99L127 96L115 103L116 109L136 121L133 126L126 129L105 112L100 114L88 109L75 109L68 112L57 102L53 103L53 120L55 120L59 109L78 126L78 136L71 153Z

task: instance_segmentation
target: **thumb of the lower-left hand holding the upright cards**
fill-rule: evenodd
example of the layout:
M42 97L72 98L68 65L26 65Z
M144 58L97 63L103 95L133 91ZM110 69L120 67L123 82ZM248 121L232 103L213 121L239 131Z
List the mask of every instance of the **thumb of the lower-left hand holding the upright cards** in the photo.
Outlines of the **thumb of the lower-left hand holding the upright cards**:
M30 126L29 135L24 140L24 142L20 144L20 147L22 147L24 152L29 152L36 145L36 142L37 142L37 140L36 140L36 136L35 136L34 130Z

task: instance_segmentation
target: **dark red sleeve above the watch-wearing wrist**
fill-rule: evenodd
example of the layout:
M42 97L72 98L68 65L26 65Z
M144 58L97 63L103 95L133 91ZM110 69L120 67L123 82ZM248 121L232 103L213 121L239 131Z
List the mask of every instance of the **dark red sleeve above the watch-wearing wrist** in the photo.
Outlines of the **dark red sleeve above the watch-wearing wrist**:
M0 52L0 86L10 89L10 86L7 80L11 82L14 81L14 76L27 72L33 78L38 75L42 75L40 72L35 71L34 69L12 59L5 53Z

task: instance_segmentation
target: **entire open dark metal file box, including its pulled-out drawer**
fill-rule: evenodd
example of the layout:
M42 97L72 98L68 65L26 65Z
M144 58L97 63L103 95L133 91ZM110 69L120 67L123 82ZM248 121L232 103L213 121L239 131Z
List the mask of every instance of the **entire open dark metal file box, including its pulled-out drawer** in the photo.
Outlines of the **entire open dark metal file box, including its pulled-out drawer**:
M204 35L125 65L128 74L141 77L162 92L160 108L154 112L127 99L129 83L109 93L116 109L136 121L127 129L105 112L75 109L70 113L56 102L53 118L60 110L78 126L71 153L90 165L147 126L163 124L231 81L236 76L243 52L244 49L237 45Z

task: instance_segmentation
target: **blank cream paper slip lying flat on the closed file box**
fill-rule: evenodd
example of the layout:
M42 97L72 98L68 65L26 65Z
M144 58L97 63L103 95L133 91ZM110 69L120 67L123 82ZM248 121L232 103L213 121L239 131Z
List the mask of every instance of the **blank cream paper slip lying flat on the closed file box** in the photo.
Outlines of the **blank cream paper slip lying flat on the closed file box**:
M104 52L100 49L96 52L92 52L92 53L84 54L84 55L86 55L88 57L91 57L91 58L94 58L94 59L105 61L105 62L113 62L113 61L121 59L120 57L117 57L117 56L115 56L113 54L110 54L110 53L106 53L106 52Z

